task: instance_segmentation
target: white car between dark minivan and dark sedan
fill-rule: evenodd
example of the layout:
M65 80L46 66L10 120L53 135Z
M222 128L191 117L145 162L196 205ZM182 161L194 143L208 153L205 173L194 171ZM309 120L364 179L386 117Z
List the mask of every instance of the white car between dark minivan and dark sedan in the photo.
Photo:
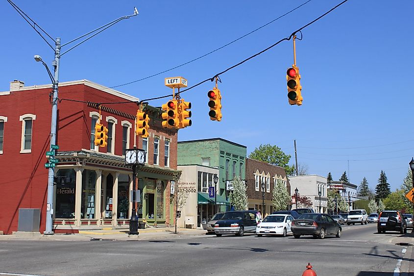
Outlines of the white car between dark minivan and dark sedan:
M282 235L283 237L286 237L287 234L292 233L292 221L293 217L291 215L268 215L256 226L256 235L258 237L261 237L262 235Z

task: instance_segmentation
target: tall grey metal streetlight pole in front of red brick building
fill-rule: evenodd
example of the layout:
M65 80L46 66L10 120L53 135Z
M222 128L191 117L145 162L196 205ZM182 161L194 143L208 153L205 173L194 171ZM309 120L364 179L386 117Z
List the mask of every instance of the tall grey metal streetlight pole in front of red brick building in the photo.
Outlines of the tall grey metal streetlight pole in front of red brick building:
M49 151L53 151L52 145L56 145L56 125L57 125L57 94L59 85L59 60L60 60L60 38L56 38L55 58L53 61L54 67L54 83L53 83L53 98L52 98L52 121L50 125L50 147ZM48 198L46 205L46 229L43 232L46 235L53 234L53 182L54 182L54 167L49 168L48 176Z

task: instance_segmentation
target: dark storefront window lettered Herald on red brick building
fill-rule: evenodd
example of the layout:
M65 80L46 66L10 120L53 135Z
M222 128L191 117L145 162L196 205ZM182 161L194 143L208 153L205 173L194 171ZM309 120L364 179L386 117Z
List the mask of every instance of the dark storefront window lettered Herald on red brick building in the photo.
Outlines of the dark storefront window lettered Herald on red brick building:
M56 210L57 219L75 217L76 174L73 169L59 170L56 174Z

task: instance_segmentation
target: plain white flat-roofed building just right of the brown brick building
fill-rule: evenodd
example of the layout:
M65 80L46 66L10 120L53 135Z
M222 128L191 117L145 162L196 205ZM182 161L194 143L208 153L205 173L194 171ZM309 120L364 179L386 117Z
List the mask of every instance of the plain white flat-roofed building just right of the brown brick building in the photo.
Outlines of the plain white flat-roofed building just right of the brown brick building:
M289 182L291 183L291 196L292 201L295 198L295 190L298 190L298 195L301 197L308 197L312 202L312 208L316 213L326 213L328 210L328 191L326 177L317 175L306 175L306 176L289 176ZM319 197L320 192L320 197ZM319 201L320 199L320 201ZM300 203L297 205L298 208L304 208ZM292 204L292 209L296 208L296 204Z

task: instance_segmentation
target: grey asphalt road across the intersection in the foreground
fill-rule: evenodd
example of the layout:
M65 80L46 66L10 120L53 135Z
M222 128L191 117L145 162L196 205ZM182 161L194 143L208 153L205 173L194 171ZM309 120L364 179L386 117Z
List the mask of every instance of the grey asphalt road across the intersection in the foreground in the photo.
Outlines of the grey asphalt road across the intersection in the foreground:
M403 247L376 225L341 238L184 236L147 241L1 241L2 273L26 275L286 275L310 262L318 276L393 276Z

